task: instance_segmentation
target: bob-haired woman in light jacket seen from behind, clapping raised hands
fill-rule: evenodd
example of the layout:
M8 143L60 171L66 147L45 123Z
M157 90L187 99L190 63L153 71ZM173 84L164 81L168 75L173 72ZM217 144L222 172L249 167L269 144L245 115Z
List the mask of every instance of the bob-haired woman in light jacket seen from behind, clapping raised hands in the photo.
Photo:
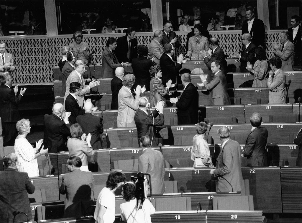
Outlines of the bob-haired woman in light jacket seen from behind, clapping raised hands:
M87 157L93 156L95 154L95 151L92 149L92 146L90 144L91 134L88 133L87 136L86 134L83 134L82 127L78 123L72 124L72 126L70 126L70 134L71 138L67 140L69 157L80 157L80 159L82 160L82 166L80 167L80 170L89 171Z

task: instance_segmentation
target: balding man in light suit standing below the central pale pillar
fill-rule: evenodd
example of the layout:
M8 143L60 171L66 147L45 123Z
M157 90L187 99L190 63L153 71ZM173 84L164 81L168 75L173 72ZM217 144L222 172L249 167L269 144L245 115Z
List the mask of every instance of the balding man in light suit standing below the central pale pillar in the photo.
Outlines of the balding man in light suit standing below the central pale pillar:
M164 47L162 46L162 38L164 34L161 30L156 30L153 34L153 40L149 44L149 53L148 56L150 59L154 57L153 63L159 65L159 60L162 54L164 53Z

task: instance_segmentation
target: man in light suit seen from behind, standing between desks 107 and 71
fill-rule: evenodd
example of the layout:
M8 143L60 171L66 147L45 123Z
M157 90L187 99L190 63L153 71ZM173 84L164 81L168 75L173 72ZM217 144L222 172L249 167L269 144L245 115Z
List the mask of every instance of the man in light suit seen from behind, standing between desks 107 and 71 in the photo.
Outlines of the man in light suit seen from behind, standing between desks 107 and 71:
M138 171L151 175L152 194L165 193L165 166L162 153L151 149L151 139L147 135L140 138L140 147L143 154L138 157Z

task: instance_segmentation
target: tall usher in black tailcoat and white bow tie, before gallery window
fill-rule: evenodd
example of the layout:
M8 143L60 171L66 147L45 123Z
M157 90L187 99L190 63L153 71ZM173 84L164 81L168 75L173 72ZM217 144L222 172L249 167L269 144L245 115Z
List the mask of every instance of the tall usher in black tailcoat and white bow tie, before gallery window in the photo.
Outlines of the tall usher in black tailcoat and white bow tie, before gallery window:
M265 30L263 21L254 17L254 8L246 6L246 18L242 25L242 34L249 33L257 48L265 49Z

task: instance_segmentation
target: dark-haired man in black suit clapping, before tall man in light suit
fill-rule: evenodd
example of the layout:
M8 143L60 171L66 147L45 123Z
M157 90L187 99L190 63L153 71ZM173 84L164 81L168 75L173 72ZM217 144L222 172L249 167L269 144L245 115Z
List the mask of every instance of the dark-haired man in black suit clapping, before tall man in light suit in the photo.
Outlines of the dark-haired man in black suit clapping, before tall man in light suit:
M66 97L65 100L65 110L70 111L71 115L69 116L69 123L75 124L76 123L76 117L78 115L84 115L85 111L83 108L80 107L79 101L76 96L79 95L81 91L81 84L79 82L71 82L69 85L69 95ZM88 102L91 101L90 99L87 99ZM85 101L84 101L85 104Z

